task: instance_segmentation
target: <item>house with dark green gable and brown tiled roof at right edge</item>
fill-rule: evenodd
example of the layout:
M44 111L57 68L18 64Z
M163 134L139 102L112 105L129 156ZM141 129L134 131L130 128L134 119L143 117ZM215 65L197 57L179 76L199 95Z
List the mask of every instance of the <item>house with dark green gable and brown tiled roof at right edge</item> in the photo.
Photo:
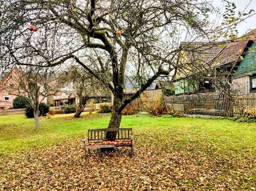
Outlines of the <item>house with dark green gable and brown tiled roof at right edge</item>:
M237 94L256 92L256 29L223 48L218 68L230 71L227 81Z

